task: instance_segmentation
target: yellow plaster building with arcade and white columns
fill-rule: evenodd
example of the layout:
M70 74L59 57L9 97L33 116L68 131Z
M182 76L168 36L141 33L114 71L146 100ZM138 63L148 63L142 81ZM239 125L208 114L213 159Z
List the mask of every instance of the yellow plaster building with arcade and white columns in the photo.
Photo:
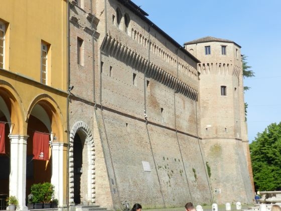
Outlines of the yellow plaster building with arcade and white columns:
M0 200L15 195L20 210L39 182L54 184L59 206L67 203L67 26L65 0L1 2ZM33 159L36 131L49 135L49 161Z

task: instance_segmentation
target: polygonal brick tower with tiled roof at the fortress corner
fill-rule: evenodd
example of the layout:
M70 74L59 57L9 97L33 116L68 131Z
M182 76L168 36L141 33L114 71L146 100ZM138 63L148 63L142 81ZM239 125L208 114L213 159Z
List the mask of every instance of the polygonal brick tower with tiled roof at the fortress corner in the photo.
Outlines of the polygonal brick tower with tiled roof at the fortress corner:
M185 43L201 62L200 113L202 147L214 191L220 203L251 201L252 175L245 123L240 46L204 37Z

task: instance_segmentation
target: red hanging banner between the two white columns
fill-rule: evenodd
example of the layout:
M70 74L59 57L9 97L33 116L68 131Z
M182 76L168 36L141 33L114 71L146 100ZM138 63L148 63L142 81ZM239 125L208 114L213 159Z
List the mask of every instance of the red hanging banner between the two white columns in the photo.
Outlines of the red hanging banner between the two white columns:
M49 134L34 132L33 156L34 160L49 160Z

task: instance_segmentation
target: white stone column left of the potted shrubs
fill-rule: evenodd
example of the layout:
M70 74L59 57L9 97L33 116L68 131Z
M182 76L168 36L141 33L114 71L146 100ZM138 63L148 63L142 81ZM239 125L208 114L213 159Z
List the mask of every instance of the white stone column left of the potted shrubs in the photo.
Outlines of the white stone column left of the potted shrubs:
M10 157L10 196L15 195L19 200L19 209L27 211L26 206L26 157L27 138L24 135L10 135L11 157Z

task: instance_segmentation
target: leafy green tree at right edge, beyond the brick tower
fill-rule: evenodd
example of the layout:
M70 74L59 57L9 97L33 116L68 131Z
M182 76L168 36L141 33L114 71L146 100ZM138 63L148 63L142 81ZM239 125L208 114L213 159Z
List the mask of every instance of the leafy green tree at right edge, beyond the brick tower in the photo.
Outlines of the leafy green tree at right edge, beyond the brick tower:
M250 144L255 189L281 190L281 122L272 123Z

